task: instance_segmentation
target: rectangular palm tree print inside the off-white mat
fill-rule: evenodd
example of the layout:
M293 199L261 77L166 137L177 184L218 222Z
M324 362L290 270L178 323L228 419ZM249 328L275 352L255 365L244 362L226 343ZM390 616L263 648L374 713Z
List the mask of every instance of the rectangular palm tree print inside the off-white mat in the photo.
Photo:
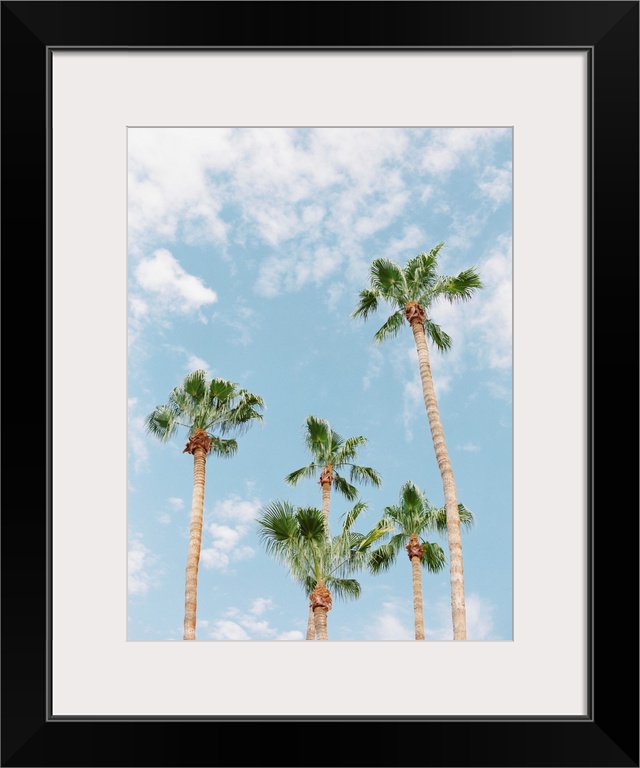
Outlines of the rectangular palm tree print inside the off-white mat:
M128 129L128 640L513 639L512 139Z

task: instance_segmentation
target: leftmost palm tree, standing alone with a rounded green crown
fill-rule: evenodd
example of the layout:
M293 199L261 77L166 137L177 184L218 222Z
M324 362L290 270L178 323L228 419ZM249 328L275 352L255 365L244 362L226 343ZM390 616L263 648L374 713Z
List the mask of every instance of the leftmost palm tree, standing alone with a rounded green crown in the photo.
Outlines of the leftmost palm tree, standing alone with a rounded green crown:
M258 395L225 379L208 381L205 371L198 370L185 376L171 391L168 402L158 405L145 419L147 432L162 442L184 427L188 439L183 453L193 456L193 495L184 597L185 640L196 639L196 597L207 456L210 453L223 459L234 456L238 443L226 435L243 434L254 421L262 420L259 412L262 409L264 401Z

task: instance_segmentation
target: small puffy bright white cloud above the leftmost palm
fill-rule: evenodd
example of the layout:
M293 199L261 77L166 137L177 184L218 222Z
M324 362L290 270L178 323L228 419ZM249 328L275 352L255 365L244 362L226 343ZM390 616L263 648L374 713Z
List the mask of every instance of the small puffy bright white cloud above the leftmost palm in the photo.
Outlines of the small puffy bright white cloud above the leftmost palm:
M140 288L153 294L154 301L159 301L166 310L186 314L217 301L216 293L200 278L185 272L166 248L141 259L134 275Z

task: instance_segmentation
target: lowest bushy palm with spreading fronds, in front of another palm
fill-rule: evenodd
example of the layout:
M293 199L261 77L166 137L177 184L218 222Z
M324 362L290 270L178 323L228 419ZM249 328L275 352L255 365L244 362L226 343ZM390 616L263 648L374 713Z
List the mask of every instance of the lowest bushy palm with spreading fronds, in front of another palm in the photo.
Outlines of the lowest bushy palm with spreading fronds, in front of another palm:
M365 567L371 545L389 530L386 523L378 523L367 534L354 532L353 525L364 509L366 504L358 502L333 537L326 536L324 514L315 507L296 508L287 501L274 501L257 517L267 553L288 568L309 597L318 640L329 639L327 613L333 596L345 600L360 596L360 584L350 576Z

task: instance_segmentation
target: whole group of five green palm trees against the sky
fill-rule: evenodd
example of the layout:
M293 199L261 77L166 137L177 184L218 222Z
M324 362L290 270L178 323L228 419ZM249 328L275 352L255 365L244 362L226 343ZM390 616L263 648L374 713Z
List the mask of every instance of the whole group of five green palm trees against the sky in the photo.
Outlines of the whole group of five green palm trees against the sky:
M328 639L327 613L332 607L333 596L349 599L360 595L360 584L353 578L357 571L366 568L375 574L386 570L403 547L411 563L415 638L424 640L421 569L436 572L446 564L442 548L422 538L431 531L447 537L453 637L454 640L466 639L461 528L471 525L473 516L458 502L431 375L427 340L440 351L451 347L451 338L433 321L430 310L441 299L452 303L469 300L482 283L475 269L454 276L439 275L438 253L443 246L440 243L429 253L418 254L404 267L386 258L375 259L369 271L369 287L360 291L352 317L366 320L383 304L392 309L392 314L374 334L376 343L396 336L405 321L412 330L427 418L442 479L444 507L433 507L420 488L408 481L400 490L399 502L386 507L370 531L361 534L353 530L358 516L367 508L364 502L357 501L342 517L339 533L333 536L329 515L332 487L353 502L358 496L354 482L379 486L381 479L375 470L355 463L358 448L367 442L366 438L344 439L326 419L309 416L305 443L312 461L291 472L285 480L296 485L301 479L319 476L322 508L296 508L287 501L276 500L265 505L257 518L266 551L287 567L309 600L308 640ZM193 497L185 577L185 640L195 639L207 456L229 458L235 455L238 445L234 438L262 420L263 409L264 401L258 395L224 379L208 381L205 372L198 370L172 390L166 404L157 406L147 416L148 432L162 441L169 440L183 427L188 438L183 452L193 456Z

